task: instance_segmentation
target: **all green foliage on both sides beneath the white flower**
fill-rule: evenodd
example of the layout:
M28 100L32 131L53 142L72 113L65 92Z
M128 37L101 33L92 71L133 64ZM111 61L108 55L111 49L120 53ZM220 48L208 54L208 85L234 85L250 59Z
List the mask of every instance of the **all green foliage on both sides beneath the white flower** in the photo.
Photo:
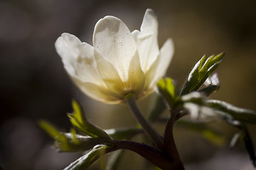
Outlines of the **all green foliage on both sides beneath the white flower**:
M142 126L144 129L142 127L129 127L102 130L87 120L84 111L82 111L82 107L77 101L73 101L73 113L69 113L68 118L70 118L70 123L86 136L78 135L75 128L71 128L70 132L60 132L53 125L43 120L40 121L39 125L43 130L48 132L50 137L53 137L55 140L54 145L60 149L60 152L82 152L90 150L87 154L65 168L65 170L80 170L87 169L88 166L99 157L117 149L129 149L137 152L159 167L163 165L161 163L166 159L166 166L163 167L172 166L172 162L170 163L169 159L172 158L173 155L171 155L171 157L169 157L170 155L168 157L166 156L166 154L169 154L170 148L171 153L172 149L175 149L175 146L166 147L166 144L170 144L169 139L171 138L168 138L171 133L170 128L173 128L173 125L177 122L176 124L183 128L201 133L206 140L212 142L214 145L223 145L224 141L220 132L209 128L205 123L206 120L218 119L238 128L239 132L236 133L231 140L230 148L235 147L238 141L243 140L252 164L256 167L254 146L252 145L252 140L246 128L247 123L256 124L256 113L245 108L238 108L224 101L208 99L210 94L213 94L220 88L218 76L217 74L213 74L213 72L222 61L224 55L224 53L220 53L219 55L211 55L208 58L204 55L188 75L188 79L183 85L180 95L176 94L176 87L172 79L161 79L158 82L157 87L161 95L155 95L154 102L150 105L151 108L148 120L151 123L162 120L160 117L161 113L166 110L166 106L169 106L171 118L167 118L163 121L164 123L167 122L164 137L160 137L160 135L151 128L151 125L147 124L147 121L144 120L143 117L143 121L145 121L147 125ZM205 84L206 87L199 90L203 84ZM126 101L132 99L134 99L133 94L126 96ZM132 108L131 111L140 113L139 108L137 108L133 100L132 106L133 107L130 107ZM193 121L180 120L184 115L190 115ZM195 120L203 120L203 123L198 123ZM149 131L149 129L151 129L151 131ZM155 145L157 147L150 147L149 145L137 142L124 141L143 132L154 132L154 137L151 137L151 134L149 134L149 136L151 139L157 139L157 144L159 145ZM169 152L166 152L166 150L169 150ZM117 169L122 153L123 150L119 150L111 154L112 157L110 157L109 162L107 162L107 170ZM158 155L158 157L155 157L156 155ZM159 155L161 157L159 157ZM157 160L155 161L155 159ZM103 166L105 165L106 164L103 164ZM156 169L158 168L156 167Z

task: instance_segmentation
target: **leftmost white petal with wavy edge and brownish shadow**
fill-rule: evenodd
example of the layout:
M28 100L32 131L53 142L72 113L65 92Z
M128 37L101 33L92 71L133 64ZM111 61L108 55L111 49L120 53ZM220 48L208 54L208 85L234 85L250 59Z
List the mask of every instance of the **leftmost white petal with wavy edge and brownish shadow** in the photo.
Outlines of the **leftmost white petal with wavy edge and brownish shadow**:
M82 82L104 84L97 72L94 50L91 45L81 42L75 35L63 33L55 42L58 55L70 77Z

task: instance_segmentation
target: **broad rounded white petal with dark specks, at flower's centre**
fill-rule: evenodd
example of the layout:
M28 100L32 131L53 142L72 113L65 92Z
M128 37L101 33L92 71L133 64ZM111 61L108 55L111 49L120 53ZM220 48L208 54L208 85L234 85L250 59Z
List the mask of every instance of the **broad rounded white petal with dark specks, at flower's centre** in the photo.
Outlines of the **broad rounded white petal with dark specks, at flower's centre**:
M114 16L100 19L93 33L93 46L126 81L129 62L137 52L136 42L127 26Z

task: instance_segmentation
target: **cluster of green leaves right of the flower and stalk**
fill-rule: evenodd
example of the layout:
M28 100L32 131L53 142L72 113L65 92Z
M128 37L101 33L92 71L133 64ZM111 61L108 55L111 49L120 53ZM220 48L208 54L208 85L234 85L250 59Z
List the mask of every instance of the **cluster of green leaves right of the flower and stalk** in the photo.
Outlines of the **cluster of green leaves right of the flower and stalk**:
M204 55L188 75L180 96L176 96L175 86L171 79L161 79L157 84L158 89L161 96L169 104L171 111L178 111L176 120L188 114L193 120L220 119L238 128L240 132L233 137L230 147L234 147L239 139L243 140L252 164L256 166L254 147L250 135L245 128L245 123L256 124L256 113L245 108L238 108L224 101L209 100L207 98L220 88L218 76L213 74L213 72L222 61L224 55L224 53L220 53L220 55L212 55L207 59L206 55ZM210 76L211 74L213 75ZM202 84L205 84L206 87L198 90ZM183 121L178 124L190 130L200 132L203 137L216 145L223 144L223 138L217 132L210 130L205 124Z

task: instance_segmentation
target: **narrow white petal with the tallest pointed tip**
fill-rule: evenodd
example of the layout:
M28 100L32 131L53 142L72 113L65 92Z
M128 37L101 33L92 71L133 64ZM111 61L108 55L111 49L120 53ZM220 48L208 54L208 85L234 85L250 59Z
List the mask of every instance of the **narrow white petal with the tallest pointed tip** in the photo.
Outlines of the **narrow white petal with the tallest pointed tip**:
M147 9L144 15L141 32L136 33L137 49L142 62L142 70L149 70L151 64L159 55L159 45L157 42L158 21L154 11Z

